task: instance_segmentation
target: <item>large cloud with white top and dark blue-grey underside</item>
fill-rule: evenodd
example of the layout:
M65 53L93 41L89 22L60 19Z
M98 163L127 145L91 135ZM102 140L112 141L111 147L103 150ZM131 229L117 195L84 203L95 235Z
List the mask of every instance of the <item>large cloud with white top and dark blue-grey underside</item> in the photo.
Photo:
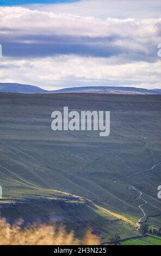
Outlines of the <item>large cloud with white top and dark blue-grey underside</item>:
M4 56L35 58L59 54L123 56L126 62L155 62L161 19L96 19L22 7L0 8ZM6 18L7 17L7 18Z

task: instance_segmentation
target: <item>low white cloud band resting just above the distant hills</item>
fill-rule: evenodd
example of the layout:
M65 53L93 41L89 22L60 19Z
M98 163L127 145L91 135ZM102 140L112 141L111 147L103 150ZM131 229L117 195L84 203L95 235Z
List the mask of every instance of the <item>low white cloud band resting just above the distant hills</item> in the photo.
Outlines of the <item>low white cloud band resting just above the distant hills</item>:
M35 84L51 90L85 85L160 87L160 60L116 64L113 57L3 58L0 68L0 82Z

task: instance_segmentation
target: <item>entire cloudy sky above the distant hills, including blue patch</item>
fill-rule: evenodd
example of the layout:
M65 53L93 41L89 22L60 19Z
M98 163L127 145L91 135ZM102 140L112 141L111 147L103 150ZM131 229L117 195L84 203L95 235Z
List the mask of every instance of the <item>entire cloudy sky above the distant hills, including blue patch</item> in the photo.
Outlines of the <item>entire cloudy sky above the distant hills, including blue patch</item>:
M161 88L160 0L0 0L0 82Z

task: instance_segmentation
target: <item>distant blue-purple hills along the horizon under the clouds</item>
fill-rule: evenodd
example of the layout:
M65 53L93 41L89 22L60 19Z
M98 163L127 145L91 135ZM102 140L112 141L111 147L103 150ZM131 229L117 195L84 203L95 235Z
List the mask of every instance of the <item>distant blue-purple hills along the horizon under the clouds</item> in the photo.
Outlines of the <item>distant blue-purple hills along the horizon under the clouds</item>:
M60 90L44 90L38 86L19 83L0 83L1 93L104 93L104 94L161 94L161 89L143 89L135 87L119 87L119 86L88 86L88 87L72 87Z

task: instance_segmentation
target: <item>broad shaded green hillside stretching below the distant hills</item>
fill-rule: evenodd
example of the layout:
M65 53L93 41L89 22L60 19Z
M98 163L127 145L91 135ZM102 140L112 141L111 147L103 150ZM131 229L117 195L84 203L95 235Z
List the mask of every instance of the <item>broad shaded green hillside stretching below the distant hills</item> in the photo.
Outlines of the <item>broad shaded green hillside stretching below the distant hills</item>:
M93 200L135 222L160 213L160 166L114 183L160 161L159 95L0 94L0 180L5 198L53 197L55 191ZM53 132L51 113L63 106L111 112L111 133Z

